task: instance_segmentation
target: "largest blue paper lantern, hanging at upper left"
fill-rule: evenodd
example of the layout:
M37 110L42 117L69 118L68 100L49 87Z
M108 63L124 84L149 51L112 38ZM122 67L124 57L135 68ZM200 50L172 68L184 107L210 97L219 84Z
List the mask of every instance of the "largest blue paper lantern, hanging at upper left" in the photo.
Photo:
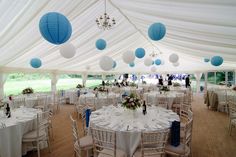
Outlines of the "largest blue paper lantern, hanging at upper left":
M39 30L45 40L56 45L65 43L72 33L70 21L57 12L43 15L39 21Z

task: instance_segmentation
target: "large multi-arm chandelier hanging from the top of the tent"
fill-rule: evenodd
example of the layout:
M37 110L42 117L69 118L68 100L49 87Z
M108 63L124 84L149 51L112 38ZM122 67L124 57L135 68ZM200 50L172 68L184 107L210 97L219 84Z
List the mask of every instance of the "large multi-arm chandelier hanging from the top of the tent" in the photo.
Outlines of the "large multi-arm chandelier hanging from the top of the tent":
M103 30L109 30L116 24L115 19L114 18L111 19L109 15L106 13L106 0L105 0L105 12L103 15L96 18L96 23L98 28Z

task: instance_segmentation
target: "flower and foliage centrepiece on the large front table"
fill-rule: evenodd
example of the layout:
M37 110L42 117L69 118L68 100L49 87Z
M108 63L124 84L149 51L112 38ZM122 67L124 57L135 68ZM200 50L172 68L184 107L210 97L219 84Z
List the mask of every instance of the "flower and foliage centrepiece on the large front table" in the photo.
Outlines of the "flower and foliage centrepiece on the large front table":
M136 94L131 93L129 96L124 98L121 106L130 110L136 110L137 108L141 107L141 104L142 100L139 99Z

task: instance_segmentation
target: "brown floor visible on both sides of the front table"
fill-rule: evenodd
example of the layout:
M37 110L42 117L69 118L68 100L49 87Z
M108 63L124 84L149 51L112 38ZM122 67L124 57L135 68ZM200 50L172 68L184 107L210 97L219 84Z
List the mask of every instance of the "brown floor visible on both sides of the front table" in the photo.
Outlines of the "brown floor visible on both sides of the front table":
M224 113L208 110L203 104L203 96L195 95L192 102L193 120L193 157L236 157L236 129L232 136L228 133L228 117ZM54 140L52 151L41 151L41 157L73 157L72 132L69 114L76 117L73 105L64 105L53 119ZM79 122L79 126L81 123ZM29 152L25 157L36 157Z

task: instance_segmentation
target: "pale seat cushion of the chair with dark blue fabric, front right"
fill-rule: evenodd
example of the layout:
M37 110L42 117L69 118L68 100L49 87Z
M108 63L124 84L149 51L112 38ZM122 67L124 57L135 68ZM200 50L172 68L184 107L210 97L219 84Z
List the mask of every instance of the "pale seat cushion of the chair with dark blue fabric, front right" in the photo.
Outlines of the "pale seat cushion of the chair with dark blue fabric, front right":
M184 155L184 154L189 154L190 153L190 148L188 146L185 146L185 149L184 149L184 145L182 143L177 147L172 146L170 144L167 144L166 148L165 148L165 151L167 153L172 152L172 153Z

